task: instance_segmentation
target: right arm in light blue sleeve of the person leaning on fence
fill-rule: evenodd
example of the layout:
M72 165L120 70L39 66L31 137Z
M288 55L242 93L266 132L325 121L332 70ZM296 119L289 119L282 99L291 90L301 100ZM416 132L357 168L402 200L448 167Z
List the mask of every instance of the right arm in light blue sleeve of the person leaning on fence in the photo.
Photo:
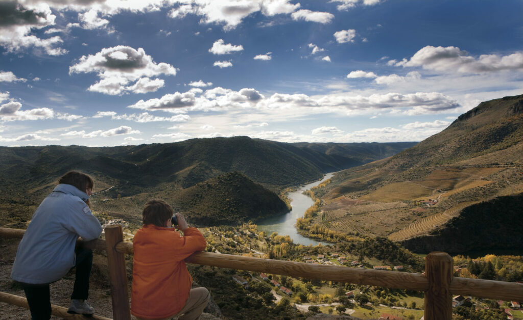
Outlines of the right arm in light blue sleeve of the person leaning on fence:
M97 239L100 236L102 231L100 222L93 216L82 199L78 198L65 207L69 209L69 212L65 213L68 218L67 221L69 221L68 230L75 232L85 241Z

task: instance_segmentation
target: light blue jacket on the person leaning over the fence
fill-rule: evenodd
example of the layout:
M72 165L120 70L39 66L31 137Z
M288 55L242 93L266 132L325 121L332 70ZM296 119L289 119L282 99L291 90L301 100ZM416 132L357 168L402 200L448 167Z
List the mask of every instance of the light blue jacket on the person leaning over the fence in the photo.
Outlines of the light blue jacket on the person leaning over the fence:
M59 184L43 200L18 245L13 280L51 283L67 274L75 265L78 236L89 241L97 239L102 230L85 203L88 198L70 184Z

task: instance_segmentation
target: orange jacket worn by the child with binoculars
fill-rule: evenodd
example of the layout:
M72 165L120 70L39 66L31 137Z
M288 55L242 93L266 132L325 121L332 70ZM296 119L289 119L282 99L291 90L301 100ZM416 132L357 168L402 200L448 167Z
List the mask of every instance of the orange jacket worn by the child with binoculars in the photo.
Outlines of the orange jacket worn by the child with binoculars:
M178 313L189 297L192 278L184 259L207 243L196 228L184 236L174 228L147 224L133 239L131 313L162 319Z

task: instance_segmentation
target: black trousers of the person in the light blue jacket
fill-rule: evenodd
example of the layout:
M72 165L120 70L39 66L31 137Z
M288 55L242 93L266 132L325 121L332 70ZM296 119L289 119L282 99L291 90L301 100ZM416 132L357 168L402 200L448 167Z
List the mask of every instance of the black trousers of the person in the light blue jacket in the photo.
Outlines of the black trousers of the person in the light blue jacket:
M86 300L89 295L89 277L93 267L93 251L85 248L77 248L76 253L76 275L74 279L73 294L71 299ZM22 283L26 293L32 320L49 320L51 318L50 283L43 285L32 285Z

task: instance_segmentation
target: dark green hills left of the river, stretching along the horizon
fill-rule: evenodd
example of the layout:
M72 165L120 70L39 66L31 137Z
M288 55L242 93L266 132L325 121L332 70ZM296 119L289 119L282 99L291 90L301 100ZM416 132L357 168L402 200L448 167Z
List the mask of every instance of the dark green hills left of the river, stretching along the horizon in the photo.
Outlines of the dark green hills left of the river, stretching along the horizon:
M95 199L104 199L103 207L111 214L122 216L124 210L139 208L147 197L155 196L179 200L180 209L191 212L195 221L200 221L198 215L210 217L216 214L217 221L230 223L260 215L254 207L231 207L232 198L236 203L253 201L245 190L256 190L257 194L279 194L286 187L318 180L325 172L389 157L415 144L288 144L233 137L101 148L0 147L0 204L6 210L10 206L17 207L18 211L20 206L38 205L55 186L58 177L75 169L94 177ZM238 174L226 175L230 172ZM218 182L224 184L219 186L221 192L212 192L205 187ZM242 185L243 188L234 189L232 185ZM229 198L222 198L226 188L230 188L226 193ZM200 210L201 204L190 205L185 201L189 194L203 197L206 210L209 210ZM112 204L114 199L129 202L125 198L133 199L132 204L124 206L127 209ZM268 195L261 198L267 202L274 199ZM271 204L259 206L269 207ZM229 213L236 218L227 219L224 212L231 208L236 208ZM281 213L282 210L280 203L267 214Z

